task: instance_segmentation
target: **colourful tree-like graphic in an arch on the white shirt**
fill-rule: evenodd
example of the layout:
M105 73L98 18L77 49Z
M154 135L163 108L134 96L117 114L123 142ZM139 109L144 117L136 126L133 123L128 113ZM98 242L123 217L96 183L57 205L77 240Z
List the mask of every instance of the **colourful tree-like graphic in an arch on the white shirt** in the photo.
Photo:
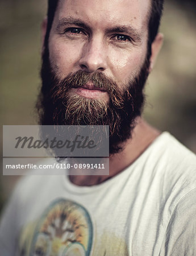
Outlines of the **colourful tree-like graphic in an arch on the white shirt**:
M28 225L23 229L20 256L90 255L93 225L89 213L81 205L65 199L56 200L34 227Z

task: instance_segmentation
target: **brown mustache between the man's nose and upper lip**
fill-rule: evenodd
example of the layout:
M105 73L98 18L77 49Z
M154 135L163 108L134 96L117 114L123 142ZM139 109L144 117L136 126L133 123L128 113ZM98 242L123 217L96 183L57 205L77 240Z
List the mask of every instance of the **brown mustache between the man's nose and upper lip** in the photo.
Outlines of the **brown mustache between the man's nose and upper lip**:
M55 74L53 74L55 77ZM123 96L125 91L120 90L119 86L110 77L107 77L102 72L87 73L85 71L77 71L70 73L64 79L55 77L53 84L55 86L51 90L52 98L60 100L66 97L66 94L71 88L80 88L87 82L92 82L95 88L101 88L109 93L110 99L116 107L121 108L123 105ZM130 90L126 90L128 97L132 98Z

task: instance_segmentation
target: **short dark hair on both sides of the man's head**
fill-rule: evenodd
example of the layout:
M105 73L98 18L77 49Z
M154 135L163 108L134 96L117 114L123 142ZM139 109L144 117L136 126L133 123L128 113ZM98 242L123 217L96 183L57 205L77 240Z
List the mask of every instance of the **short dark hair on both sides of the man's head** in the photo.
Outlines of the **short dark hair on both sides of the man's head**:
M47 32L45 34L45 43L48 44L49 33L51 31L52 22L57 9L59 0L48 0L48 24ZM155 37L159 31L160 20L162 16L164 0L151 0L151 11L149 14L148 23L148 54L151 55L151 44L155 40Z

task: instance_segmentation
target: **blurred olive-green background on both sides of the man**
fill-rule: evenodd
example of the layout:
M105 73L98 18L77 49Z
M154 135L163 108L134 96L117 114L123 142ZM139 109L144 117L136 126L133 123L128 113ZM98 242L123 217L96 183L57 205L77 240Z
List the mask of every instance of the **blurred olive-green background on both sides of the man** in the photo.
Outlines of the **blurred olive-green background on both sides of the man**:
M34 106L40 86L40 26L46 9L46 0L0 1L1 125L36 124ZM164 33L164 46L147 82L144 112L152 125L168 130L194 152L195 20L195 1L166 1L160 28ZM1 171L0 209L16 179L16 176L2 176Z

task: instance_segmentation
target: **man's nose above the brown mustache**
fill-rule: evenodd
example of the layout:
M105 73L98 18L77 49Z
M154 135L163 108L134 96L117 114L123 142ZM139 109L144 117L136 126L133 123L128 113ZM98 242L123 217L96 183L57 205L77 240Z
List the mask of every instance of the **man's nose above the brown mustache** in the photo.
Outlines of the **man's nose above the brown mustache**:
M79 61L80 68L89 73L105 71L107 67L106 56L104 42L98 38L91 39L82 48L82 56Z

